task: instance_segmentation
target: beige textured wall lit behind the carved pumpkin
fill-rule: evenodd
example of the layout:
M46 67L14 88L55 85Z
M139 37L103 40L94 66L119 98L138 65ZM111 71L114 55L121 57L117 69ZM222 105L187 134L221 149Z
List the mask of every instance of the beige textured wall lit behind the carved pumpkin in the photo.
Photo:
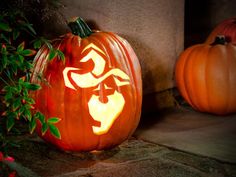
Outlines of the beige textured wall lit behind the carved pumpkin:
M141 63L144 94L173 87L183 49L184 0L62 0L63 15L81 16L94 28L127 39Z

